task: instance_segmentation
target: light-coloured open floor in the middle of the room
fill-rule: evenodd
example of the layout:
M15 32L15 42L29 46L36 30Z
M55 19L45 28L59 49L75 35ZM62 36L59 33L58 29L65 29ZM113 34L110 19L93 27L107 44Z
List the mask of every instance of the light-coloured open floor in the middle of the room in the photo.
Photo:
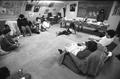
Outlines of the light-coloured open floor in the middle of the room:
M57 63L58 48L63 48L71 42L86 41L89 35L79 32L76 35L57 37L56 32L62 30L64 29L60 29L59 25L54 25L46 32L21 37L19 40L21 47L6 56L0 57L0 67L7 66L11 73L23 68L25 72L31 73L32 79L89 79L86 76L77 75ZM119 46L116 49L119 51ZM118 51L116 54L119 53ZM104 72L96 79L115 79L112 75L117 75L120 71L119 66L120 61L115 59L114 65L110 68L110 75L108 72Z

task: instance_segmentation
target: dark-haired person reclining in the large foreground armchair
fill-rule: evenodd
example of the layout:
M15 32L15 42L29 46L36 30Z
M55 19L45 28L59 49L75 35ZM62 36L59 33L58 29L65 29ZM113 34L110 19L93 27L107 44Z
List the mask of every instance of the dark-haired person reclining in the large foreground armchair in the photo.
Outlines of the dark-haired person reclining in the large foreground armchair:
M80 59L86 58L95 50L97 50L97 43L94 41L87 41L83 43L72 43L69 47L65 47L64 51L58 49L60 54L69 52L79 57Z

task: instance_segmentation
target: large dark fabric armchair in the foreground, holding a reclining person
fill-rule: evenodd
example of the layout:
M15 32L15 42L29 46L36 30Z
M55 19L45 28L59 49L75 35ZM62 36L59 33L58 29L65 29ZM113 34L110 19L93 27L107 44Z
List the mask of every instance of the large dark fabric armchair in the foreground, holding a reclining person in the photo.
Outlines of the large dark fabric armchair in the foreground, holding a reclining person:
M92 50L93 52L83 59L79 58L80 55L75 56L73 53L62 53L59 57L59 64L67 66L77 74L82 72L85 75L96 76L100 72L105 61L111 57L111 52L105 52L104 46L98 43L96 44L97 50Z

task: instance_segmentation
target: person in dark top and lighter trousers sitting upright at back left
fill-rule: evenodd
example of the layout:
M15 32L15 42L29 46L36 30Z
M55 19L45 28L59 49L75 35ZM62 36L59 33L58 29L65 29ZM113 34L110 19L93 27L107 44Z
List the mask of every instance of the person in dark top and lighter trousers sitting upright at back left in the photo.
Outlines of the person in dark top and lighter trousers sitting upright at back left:
M19 15L19 18L17 19L17 25L24 37L25 37L27 31L29 32L29 35L31 36L31 34L32 34L31 29L28 25L27 18L25 18L25 16L23 14Z

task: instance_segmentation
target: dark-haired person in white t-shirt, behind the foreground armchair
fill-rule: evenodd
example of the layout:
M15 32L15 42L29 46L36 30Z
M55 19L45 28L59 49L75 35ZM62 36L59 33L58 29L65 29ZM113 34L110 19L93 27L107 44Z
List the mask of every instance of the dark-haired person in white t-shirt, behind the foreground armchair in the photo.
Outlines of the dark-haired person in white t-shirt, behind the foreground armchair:
M90 37L89 40L94 40L95 42L103 45L103 46L108 46L111 44L115 38L115 31L114 30L107 30L106 34L104 37L97 38L97 37Z

